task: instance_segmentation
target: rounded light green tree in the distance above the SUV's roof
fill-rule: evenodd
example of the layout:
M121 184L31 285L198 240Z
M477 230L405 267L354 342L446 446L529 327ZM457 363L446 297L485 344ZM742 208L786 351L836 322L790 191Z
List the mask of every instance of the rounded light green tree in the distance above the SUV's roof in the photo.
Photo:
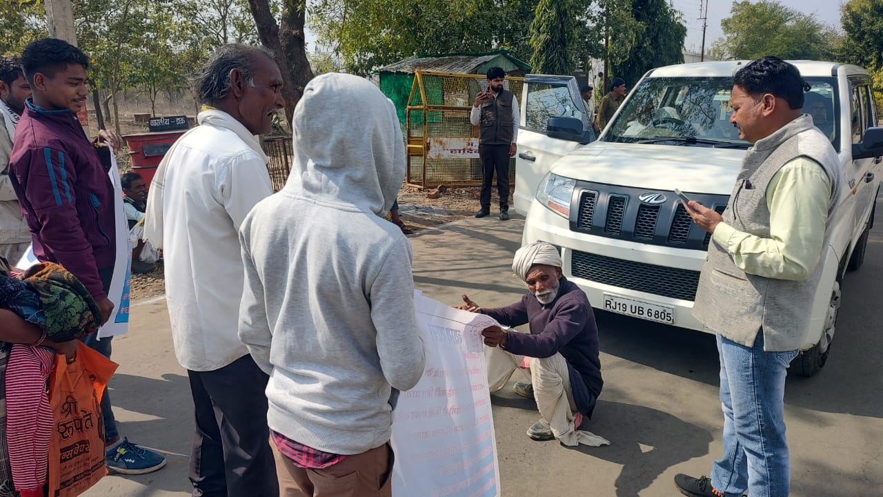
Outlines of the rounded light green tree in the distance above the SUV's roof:
M713 43L722 59L753 59L766 55L788 59L827 60L834 57L838 34L814 14L791 9L775 0L736 2L721 20L723 37Z

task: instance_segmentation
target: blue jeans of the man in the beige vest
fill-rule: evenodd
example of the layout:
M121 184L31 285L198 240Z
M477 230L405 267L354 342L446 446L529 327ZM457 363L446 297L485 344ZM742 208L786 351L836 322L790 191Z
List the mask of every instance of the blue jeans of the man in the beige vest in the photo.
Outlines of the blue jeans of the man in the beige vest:
M785 440L785 376L796 350L764 352L763 330L754 347L717 336L721 356L723 456L712 486L726 497L785 497L790 463Z

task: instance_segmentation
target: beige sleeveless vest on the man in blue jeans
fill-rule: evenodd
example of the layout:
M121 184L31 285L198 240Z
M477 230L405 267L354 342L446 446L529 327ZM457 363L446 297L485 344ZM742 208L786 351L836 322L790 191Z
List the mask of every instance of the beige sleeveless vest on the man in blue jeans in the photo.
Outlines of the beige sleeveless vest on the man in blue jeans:
M723 220L736 230L770 237L770 212L766 188L781 167L796 157L809 157L821 165L831 180L831 200L822 247L831 238L842 180L840 160L830 141L804 115L748 149L736 187L729 197ZM795 350L804 343L810 325L812 299L822 274L825 250L819 264L803 281L765 278L748 274L733 262L727 250L712 239L708 258L699 276L693 316L714 333L746 347L764 333L768 352Z

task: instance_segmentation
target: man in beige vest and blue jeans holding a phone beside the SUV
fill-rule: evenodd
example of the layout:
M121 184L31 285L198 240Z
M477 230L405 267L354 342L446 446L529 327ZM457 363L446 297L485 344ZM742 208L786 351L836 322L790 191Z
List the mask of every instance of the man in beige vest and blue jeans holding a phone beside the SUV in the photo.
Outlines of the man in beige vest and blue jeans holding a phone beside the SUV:
M842 184L834 148L801 111L805 89L777 57L737 71L730 122L754 145L723 215L686 205L713 233L693 315L717 334L724 424L711 478L675 476L684 495L789 494L785 376L809 325Z

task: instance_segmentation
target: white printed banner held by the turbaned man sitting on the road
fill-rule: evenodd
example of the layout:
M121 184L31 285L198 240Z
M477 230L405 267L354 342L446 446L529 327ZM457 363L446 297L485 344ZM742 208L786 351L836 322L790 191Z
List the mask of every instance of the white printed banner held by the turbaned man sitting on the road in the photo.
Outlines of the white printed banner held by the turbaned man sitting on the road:
M494 320L415 295L426 368L393 413L394 497L498 497L481 330Z

